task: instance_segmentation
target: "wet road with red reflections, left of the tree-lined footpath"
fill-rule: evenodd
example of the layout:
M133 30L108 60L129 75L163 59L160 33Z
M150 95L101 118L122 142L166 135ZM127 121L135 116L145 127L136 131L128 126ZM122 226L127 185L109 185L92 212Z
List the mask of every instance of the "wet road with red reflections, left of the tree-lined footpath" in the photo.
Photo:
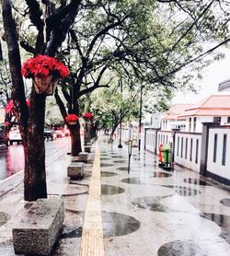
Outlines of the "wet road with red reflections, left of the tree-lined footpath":
M46 164L52 161L55 155L70 148L70 138L59 138L54 141L46 141ZM0 181L12 176L24 169L24 152L22 145L10 145L0 151Z

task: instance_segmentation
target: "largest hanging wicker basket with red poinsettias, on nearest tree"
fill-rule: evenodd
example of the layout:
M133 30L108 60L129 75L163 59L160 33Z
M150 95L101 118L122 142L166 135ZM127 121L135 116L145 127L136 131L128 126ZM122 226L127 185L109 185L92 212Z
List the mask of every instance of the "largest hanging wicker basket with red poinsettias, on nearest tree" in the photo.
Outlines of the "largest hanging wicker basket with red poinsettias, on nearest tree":
M37 94L49 96L55 91L59 79L69 75L69 70L63 63L50 56L38 55L23 64L21 74L34 79Z

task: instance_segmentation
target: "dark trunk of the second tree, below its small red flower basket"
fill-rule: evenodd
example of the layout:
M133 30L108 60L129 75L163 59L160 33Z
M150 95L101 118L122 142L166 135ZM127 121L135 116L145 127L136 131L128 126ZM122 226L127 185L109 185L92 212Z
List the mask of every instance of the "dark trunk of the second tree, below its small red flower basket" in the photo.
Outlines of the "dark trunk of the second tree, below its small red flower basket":
M82 152L79 121L75 125L69 125L69 130L71 135L71 156L76 157Z

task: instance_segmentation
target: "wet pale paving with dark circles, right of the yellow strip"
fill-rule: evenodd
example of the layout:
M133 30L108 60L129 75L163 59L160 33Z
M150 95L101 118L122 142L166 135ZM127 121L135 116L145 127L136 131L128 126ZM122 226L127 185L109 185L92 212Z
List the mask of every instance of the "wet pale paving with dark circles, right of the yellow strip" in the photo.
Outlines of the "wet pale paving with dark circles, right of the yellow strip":
M102 211L140 222L133 231L120 215L103 218L104 233L114 223L121 228L120 235L105 236L106 255L230 255L229 192L194 171L160 169L152 153L137 148L128 174L125 145L109 148L100 141L99 146L107 158L101 157L101 171L117 173L101 177Z

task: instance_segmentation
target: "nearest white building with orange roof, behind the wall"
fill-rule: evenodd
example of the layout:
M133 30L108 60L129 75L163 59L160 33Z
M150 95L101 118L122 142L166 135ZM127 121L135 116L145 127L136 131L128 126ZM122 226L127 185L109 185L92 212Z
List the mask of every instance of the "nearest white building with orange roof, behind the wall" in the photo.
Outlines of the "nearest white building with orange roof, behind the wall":
M178 116L186 120L185 132L201 133L202 122L230 124L230 93L217 94L201 100Z

